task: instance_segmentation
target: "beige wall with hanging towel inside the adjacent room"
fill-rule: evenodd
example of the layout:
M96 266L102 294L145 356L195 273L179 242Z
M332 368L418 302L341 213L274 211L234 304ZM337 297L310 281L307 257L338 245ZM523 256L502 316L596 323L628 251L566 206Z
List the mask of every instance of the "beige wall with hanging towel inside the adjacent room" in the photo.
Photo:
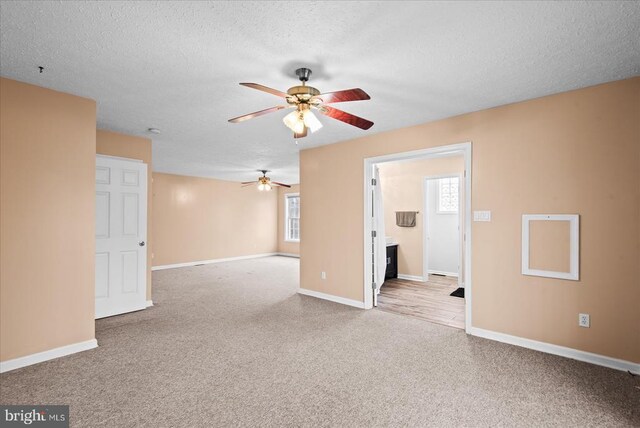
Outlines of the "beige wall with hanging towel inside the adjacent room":
M464 158L447 157L379 165L385 234L398 243L398 273L422 276L424 177L464 171ZM396 226L396 211L420 211L415 227Z

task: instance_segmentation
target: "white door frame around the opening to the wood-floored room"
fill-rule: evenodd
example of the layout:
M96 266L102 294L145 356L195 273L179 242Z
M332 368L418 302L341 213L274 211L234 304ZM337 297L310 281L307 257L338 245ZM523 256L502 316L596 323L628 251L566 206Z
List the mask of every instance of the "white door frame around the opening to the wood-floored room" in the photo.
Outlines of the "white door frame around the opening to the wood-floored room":
M432 147L410 152L393 153L390 155L376 156L364 159L364 235L363 235L363 273L364 273L364 307L373 307L373 289L371 287L371 259L368 257L371 249L372 232L372 185L373 166L385 162L402 162L416 159L435 159L449 156L464 157L464 278L465 278L465 331L470 333L472 328L471 318L471 142L450 144L446 146Z

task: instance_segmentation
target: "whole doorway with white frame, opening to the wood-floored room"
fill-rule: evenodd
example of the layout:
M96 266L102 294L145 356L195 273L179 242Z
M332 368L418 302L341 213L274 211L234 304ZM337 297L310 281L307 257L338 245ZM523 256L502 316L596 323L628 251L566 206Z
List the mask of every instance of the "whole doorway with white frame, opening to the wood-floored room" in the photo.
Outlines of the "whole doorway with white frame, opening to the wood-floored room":
M471 328L471 143L365 159L365 308Z

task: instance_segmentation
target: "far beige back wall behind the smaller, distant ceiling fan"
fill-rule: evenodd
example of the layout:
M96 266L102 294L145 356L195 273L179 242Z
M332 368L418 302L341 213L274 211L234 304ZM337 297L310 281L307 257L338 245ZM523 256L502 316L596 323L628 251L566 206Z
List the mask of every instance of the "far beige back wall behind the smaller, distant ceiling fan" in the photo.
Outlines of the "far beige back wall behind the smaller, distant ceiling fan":
M153 265L277 251L278 192L153 173Z

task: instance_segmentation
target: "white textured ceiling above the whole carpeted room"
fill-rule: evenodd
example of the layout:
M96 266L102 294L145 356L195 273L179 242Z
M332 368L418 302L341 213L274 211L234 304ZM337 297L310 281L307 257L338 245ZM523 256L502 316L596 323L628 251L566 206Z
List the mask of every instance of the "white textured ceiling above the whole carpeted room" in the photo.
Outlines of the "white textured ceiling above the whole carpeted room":
M98 103L98 126L153 138L156 171L298 181L298 152L640 73L638 2L9 2L0 74ZM45 67L38 74L37 66ZM296 146L287 110L238 85L361 87ZM161 135L145 132L149 127ZM389 144L393 144L392 141Z

